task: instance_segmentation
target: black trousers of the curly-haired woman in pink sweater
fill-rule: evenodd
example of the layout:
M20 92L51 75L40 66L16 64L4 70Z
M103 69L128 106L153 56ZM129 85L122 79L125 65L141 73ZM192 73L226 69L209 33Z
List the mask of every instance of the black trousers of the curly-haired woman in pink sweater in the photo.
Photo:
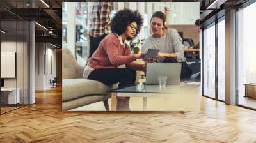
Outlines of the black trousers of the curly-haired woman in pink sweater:
M108 68L93 70L88 79L97 80L106 85L116 84L118 88L129 86L135 83L136 71L130 68Z

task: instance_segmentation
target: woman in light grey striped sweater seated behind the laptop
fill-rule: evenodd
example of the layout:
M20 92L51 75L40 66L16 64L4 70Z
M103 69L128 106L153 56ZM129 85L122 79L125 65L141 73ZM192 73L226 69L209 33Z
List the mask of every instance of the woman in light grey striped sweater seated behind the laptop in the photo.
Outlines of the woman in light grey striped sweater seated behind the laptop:
M150 19L152 34L144 41L142 50L160 49L158 53L159 63L181 63L182 80L188 80L191 76L191 69L186 63L182 47L182 38L176 29L168 29L165 25L166 15L161 11L153 13Z

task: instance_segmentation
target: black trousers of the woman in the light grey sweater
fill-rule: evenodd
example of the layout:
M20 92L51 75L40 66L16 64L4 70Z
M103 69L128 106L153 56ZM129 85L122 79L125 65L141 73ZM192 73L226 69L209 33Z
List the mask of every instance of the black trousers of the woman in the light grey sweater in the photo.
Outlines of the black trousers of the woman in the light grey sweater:
M178 61L174 57L166 57L163 63L178 63ZM189 68L186 61L180 62L180 63L181 63L180 80L182 81L189 80L191 76L191 69Z

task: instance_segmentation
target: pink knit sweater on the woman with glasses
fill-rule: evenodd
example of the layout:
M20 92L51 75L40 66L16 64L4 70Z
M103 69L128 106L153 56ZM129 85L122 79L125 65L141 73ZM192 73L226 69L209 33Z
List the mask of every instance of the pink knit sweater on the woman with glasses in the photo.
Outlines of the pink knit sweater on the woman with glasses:
M98 49L93 53L88 61L88 66L97 70L105 68L117 68L125 64L133 70L143 70L143 64L134 63L136 57L130 54L129 45L121 45L118 36L108 34L101 42Z

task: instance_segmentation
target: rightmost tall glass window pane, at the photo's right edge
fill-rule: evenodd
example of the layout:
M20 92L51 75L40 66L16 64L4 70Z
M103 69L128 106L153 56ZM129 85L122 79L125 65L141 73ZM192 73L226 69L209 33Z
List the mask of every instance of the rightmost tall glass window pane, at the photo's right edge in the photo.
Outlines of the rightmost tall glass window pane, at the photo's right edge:
M237 90L238 104L256 109L256 3L237 12Z

